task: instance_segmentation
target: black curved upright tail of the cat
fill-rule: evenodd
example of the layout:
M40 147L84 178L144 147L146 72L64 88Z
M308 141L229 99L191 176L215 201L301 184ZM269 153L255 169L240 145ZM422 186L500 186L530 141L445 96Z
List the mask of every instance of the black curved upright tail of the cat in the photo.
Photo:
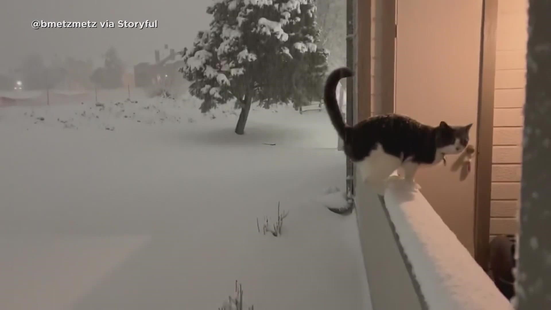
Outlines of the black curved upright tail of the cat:
M352 76L352 71L347 67L338 68L329 73L327 80L325 82L325 89L323 91L323 100L325 100L325 106L327 109L327 114L329 114L329 119L339 137L342 138L344 142L347 141L347 125L344 122L341 109L339 109L337 101L337 85L342 78L347 78Z

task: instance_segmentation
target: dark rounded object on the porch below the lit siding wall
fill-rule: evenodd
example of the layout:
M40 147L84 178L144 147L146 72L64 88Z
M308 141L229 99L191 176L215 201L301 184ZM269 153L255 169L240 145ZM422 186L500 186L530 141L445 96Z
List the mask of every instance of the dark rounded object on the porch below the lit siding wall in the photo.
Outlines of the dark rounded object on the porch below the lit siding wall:
M509 300L515 296L512 272L516 266L514 255L514 237L500 235L490 241L490 276L495 286Z

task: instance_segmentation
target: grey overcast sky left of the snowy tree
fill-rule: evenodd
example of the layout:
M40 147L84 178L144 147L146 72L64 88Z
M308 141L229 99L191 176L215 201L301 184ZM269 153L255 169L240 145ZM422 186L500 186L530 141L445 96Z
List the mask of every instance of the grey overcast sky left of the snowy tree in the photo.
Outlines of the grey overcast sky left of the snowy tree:
M0 73L21 58L38 52L47 61L53 55L99 58L114 46L128 65L154 61L154 50L164 44L179 51L190 46L197 31L208 29L205 13L212 0L0 0ZM158 20L156 29L100 28L110 20ZM33 29L33 20L93 21L95 29Z

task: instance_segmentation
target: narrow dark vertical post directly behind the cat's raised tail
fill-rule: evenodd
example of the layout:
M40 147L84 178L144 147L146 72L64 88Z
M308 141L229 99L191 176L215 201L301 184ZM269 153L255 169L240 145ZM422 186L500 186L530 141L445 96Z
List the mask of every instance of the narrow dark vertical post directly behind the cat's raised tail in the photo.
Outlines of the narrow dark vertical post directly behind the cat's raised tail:
M361 1L361 0L360 0ZM355 70L355 60L354 60L354 29L355 29L355 18L354 18L354 8L355 8L355 2L356 0L347 0L347 10L346 10L346 62L347 67L350 68L352 71ZM355 78L355 77L354 77ZM354 109L354 89L355 85L354 83L350 83L352 81L347 81L346 85L346 122L348 125L354 124L354 115L356 114L356 111ZM353 196L354 195L354 164L350 159L346 159L346 188L347 188L347 195ZM349 199L350 201L350 199Z

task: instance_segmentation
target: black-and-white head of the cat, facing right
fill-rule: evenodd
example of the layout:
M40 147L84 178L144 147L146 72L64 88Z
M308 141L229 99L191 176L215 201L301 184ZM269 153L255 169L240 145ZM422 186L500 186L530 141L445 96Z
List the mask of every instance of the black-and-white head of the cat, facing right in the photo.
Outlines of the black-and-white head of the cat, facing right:
M450 126L445 121L435 128L436 149L444 154L459 154L469 144L469 130L473 124L467 126Z

